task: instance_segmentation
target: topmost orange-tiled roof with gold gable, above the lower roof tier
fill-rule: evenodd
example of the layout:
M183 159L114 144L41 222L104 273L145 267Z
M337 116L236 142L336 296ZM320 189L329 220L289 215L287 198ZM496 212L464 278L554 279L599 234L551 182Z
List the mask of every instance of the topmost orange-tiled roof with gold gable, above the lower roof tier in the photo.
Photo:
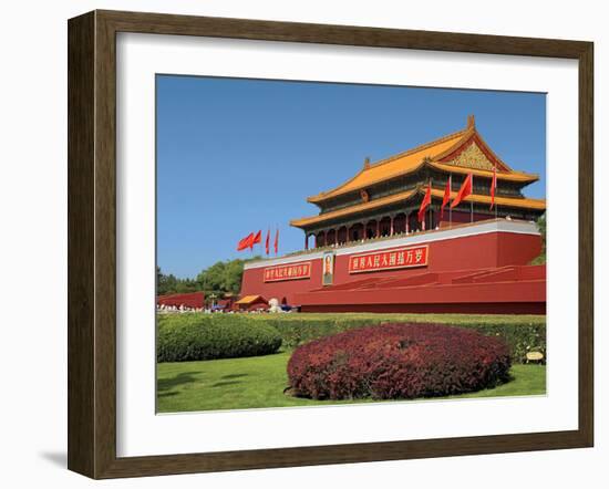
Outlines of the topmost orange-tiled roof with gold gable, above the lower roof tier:
M350 180L307 200L312 204L322 202L350 191L365 189L391 178L407 175L429 165L443 171L469 174L475 176L493 176L493 165L497 168L497 179L522 184L530 184L539 177L533 174L515 171L507 166L488 147L476 131L474 117L469 116L467 127L457 133L416 146L404 153L391 156L364 167Z

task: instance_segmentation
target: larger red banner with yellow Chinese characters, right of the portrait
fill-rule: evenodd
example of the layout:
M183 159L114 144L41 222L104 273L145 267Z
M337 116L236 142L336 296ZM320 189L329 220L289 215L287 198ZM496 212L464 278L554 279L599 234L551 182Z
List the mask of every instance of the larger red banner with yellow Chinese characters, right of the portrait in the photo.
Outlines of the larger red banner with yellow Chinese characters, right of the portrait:
M430 248L427 245L354 254L349 257L349 273L426 267L429 257Z

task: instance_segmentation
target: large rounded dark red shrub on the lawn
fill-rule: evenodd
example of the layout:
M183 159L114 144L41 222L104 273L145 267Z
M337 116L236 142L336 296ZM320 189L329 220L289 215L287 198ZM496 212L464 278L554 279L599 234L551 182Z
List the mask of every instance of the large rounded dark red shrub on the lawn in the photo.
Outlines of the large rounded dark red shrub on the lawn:
M288 362L293 395L396 399L462 394L509 379L503 340L440 324L385 324L306 343Z

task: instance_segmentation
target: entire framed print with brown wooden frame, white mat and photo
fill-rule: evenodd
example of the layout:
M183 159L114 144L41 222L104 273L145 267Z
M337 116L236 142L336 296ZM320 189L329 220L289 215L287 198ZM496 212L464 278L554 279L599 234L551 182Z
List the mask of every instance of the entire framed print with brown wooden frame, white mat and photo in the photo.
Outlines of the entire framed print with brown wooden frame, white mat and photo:
M592 446L592 56L71 19L69 468Z

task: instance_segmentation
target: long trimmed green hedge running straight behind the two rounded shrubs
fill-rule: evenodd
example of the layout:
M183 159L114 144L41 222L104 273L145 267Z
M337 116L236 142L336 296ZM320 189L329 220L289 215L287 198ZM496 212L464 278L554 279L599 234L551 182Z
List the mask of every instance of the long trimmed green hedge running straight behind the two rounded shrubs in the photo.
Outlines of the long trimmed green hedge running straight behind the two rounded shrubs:
M199 325L221 324L228 330L244 327L244 324L247 324L252 326L252 331L257 331L254 326L268 326L278 332L285 348L292 350L311 340L330 336L343 331L395 322L450 324L461 327L472 327L489 336L500 336L509 345L514 363L524 363L527 352L530 351L541 352L544 357L546 356L546 316L544 315L372 313L166 314L159 315L158 345L174 342L175 340L171 337L174 334L172 329L185 323ZM161 341L162 335L169 337ZM254 355L264 353L254 353Z

